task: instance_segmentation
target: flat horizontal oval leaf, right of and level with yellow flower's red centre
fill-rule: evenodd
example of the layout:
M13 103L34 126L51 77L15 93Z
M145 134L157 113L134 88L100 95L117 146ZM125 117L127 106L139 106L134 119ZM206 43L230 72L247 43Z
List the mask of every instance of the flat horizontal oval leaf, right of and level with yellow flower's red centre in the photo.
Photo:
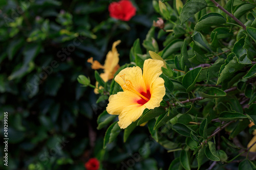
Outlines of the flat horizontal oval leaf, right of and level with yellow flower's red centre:
M202 91L199 91L199 95L202 96L203 98L212 99L212 98L224 97L227 94L219 88L206 87Z

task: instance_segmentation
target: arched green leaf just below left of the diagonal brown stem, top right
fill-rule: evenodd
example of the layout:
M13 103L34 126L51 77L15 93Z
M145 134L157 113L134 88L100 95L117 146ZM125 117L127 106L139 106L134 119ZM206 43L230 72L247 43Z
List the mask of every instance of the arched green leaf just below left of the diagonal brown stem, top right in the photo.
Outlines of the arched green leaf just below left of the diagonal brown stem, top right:
M208 13L204 16L202 16L196 26L195 26L195 31L201 31L205 28L209 28L211 26L216 26L216 25L220 25L226 23L226 19L219 13Z

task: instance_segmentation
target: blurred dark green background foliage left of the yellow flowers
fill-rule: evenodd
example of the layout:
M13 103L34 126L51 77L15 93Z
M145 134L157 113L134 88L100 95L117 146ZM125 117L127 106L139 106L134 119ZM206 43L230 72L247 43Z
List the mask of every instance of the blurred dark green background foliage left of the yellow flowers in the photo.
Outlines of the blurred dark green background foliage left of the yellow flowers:
M1 169L84 169L91 157L100 159L104 169L120 169L121 162L142 147L146 154L135 168L156 169L157 162L168 166L160 154L166 152L159 150L145 127L125 144L119 136L103 150L106 128L98 131L96 119L106 102L96 104L93 89L77 82L82 74L95 83L87 59L94 57L103 64L118 39L122 41L117 47L119 64L129 62L134 41L145 38L157 17L151 1L139 1L134 3L137 15L130 21L114 20L108 12L111 2L1 1L0 135L8 112L9 137L7 168L1 141ZM56 62L52 65L52 61ZM46 75L42 75L44 68ZM144 144L146 139L153 148Z

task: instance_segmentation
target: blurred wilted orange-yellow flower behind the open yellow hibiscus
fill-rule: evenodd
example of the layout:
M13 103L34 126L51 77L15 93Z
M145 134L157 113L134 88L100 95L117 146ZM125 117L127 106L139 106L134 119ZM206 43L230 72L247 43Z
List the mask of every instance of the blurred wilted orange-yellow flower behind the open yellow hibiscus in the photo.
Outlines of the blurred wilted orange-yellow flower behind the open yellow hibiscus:
M113 43L112 45L112 51L109 51L109 53L106 55L106 60L105 60L105 63L104 65L101 65L98 61L94 60L93 61L93 58L89 58L87 60L87 62L89 63L92 63L92 69L100 69L100 68L103 68L104 69L104 72L100 74L100 77L101 79L104 81L104 82L107 82L111 79L114 78L114 74L115 72L118 70L118 68L120 67L118 65L118 62L119 62L119 54L117 52L117 49L116 49L116 46L120 43L121 41L120 40L117 40ZM98 94L99 90L98 90L98 85L99 83L96 82L96 87L94 89L94 93ZM102 89L103 87L99 87L99 89Z

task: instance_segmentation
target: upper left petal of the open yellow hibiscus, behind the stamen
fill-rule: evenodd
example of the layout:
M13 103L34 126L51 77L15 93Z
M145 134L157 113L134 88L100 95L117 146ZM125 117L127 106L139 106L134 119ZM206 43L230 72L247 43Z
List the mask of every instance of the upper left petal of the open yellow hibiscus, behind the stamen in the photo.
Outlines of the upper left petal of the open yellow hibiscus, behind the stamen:
M119 72L119 74L115 77L115 81L122 87L124 84L124 80L122 75L125 74L125 80L130 81L133 85L133 88L137 90L139 93L146 92L145 90L145 83L142 78L142 71L141 68L136 66L136 67L128 67L124 68ZM123 91L126 91L123 89Z

